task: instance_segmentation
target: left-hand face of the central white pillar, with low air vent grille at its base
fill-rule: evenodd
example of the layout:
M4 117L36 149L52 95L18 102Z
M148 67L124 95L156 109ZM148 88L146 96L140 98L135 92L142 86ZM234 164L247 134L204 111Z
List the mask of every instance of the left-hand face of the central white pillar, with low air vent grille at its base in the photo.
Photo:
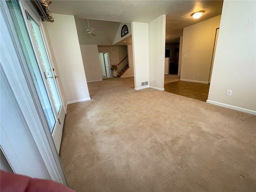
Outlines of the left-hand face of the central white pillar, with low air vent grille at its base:
M148 23L132 22L132 50L134 89L148 88L141 86L141 82L149 81Z

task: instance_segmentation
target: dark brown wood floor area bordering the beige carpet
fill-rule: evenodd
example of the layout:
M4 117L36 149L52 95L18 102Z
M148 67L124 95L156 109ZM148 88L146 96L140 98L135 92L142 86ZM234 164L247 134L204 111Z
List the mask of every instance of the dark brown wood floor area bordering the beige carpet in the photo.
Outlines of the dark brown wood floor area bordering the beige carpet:
M164 91L206 102L210 85L180 81L179 76L165 75ZM171 79L176 81L170 82ZM178 80L177 80L178 79Z

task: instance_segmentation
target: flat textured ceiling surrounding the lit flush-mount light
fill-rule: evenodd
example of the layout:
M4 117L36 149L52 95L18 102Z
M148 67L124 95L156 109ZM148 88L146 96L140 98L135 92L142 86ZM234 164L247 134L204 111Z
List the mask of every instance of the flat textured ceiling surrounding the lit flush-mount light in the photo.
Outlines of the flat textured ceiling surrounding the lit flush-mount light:
M50 10L77 18L150 22L166 14L166 44L177 43L183 28L220 15L223 0L52 0ZM193 12L204 10L199 19Z

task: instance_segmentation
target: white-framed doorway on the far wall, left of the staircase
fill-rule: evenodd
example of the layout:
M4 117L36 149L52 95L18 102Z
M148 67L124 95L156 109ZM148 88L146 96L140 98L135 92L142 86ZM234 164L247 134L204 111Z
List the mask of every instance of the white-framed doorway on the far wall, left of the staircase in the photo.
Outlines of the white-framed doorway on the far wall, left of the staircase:
M102 74L102 79L112 78L111 69L110 69L110 61L108 52L99 53L100 58L100 69Z

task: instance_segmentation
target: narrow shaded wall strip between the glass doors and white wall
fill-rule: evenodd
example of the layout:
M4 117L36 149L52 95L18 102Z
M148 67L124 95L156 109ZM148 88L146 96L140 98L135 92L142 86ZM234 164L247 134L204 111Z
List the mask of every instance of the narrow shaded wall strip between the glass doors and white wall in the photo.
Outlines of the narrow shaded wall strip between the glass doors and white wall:
M56 82L58 84L60 94L61 94L60 97L61 97L61 100L64 104L64 108L65 108L65 111L66 111L66 105L67 105L66 95L65 95L63 84L62 84L60 71L58 69L57 61L56 61L54 51L53 51L53 48L52 48L52 43L50 41L50 36L49 36L48 30L47 30L46 22L43 22L43 26L44 26L44 34L45 34L46 41L47 41L47 47L49 49L48 54L50 56L52 66L54 68L54 75L58 76L58 78L56 79Z

